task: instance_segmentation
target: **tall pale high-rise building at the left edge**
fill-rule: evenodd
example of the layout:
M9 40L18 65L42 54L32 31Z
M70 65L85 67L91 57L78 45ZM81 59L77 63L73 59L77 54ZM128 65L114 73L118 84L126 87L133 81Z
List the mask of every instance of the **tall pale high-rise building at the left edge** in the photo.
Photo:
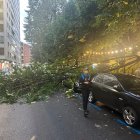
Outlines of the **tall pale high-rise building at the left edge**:
M0 0L0 63L21 64L20 0Z

